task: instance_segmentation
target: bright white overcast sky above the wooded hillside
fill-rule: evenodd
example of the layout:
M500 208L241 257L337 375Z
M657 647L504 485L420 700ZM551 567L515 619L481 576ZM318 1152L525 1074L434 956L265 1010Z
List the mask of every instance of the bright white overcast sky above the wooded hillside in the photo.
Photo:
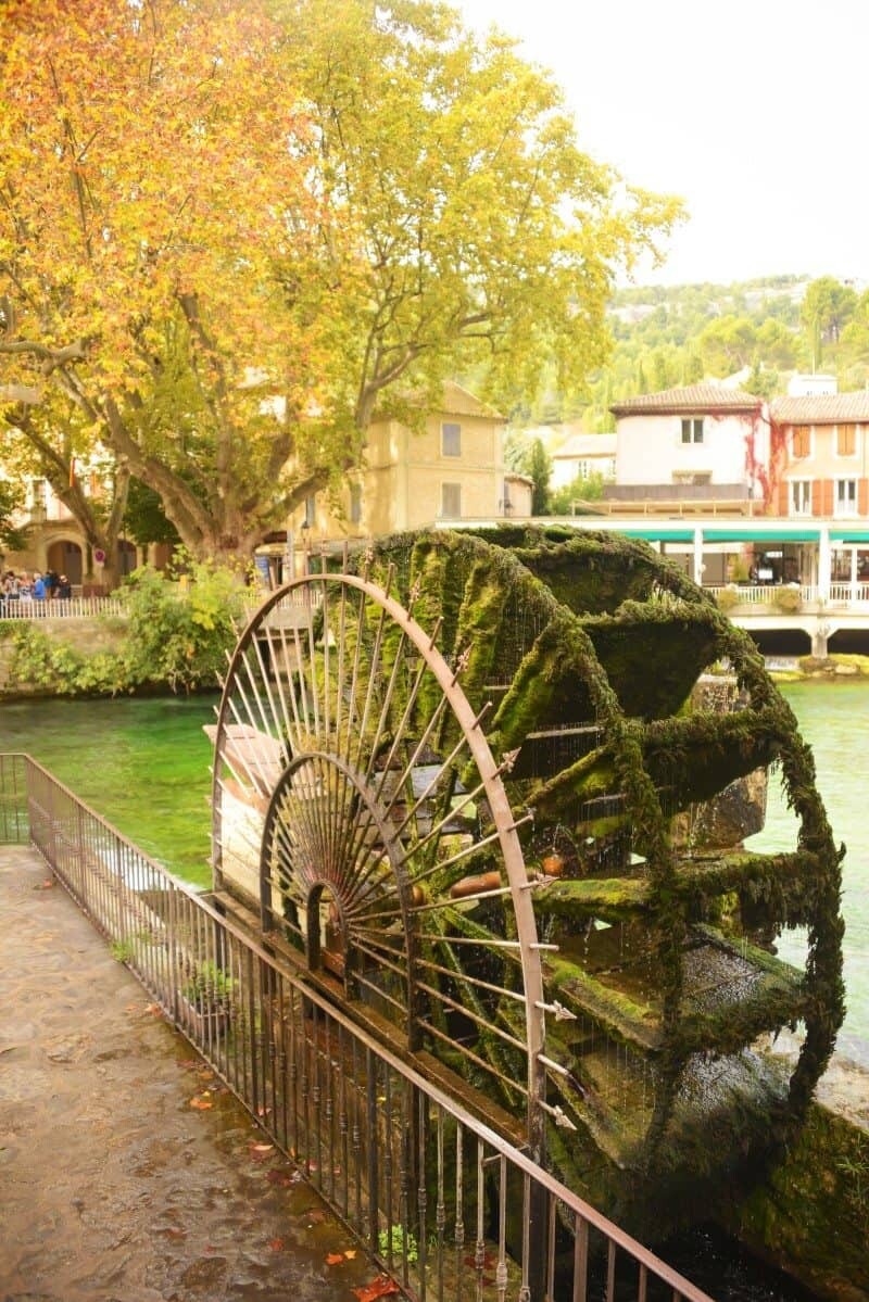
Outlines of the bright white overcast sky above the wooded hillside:
M551 69L582 147L680 194L644 281L869 280L868 0L453 0Z

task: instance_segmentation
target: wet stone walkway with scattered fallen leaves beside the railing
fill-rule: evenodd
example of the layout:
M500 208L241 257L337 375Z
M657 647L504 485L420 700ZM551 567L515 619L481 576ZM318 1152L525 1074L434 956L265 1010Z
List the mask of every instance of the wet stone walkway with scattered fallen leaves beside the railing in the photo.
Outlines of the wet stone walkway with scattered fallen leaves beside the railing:
M375 1273L42 861L0 846L1 1302L353 1302Z

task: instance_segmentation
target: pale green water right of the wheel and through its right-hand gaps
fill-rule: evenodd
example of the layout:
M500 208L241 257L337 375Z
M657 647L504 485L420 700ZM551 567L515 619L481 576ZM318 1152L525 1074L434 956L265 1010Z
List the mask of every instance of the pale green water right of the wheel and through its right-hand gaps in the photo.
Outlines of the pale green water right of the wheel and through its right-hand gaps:
M869 1064L869 687L859 682L795 682L783 689L814 753L818 789L836 841L848 853L842 866L846 918L844 980L848 1012L838 1048ZM766 827L753 850L793 849L796 820L778 781L770 784ZM784 958L803 961L799 935L784 936Z

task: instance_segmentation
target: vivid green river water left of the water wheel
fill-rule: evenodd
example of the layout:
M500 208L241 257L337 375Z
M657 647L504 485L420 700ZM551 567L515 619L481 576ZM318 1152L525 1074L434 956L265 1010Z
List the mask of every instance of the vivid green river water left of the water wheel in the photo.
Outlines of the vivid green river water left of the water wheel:
M202 725L216 698L0 706L0 751L23 750L172 872L211 884Z

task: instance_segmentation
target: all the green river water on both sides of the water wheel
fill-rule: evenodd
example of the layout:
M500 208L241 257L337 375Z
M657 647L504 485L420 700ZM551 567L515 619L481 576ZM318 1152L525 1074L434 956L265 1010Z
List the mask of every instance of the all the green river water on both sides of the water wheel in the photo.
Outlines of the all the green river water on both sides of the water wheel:
M869 1061L869 687L784 687L810 742L818 786L844 862L848 1016L839 1047ZM202 732L216 698L44 700L0 706L0 750L26 750L168 868L210 884L207 798L211 750ZM770 788L767 822L753 849L791 849L795 822ZM801 961L800 937L784 957Z

